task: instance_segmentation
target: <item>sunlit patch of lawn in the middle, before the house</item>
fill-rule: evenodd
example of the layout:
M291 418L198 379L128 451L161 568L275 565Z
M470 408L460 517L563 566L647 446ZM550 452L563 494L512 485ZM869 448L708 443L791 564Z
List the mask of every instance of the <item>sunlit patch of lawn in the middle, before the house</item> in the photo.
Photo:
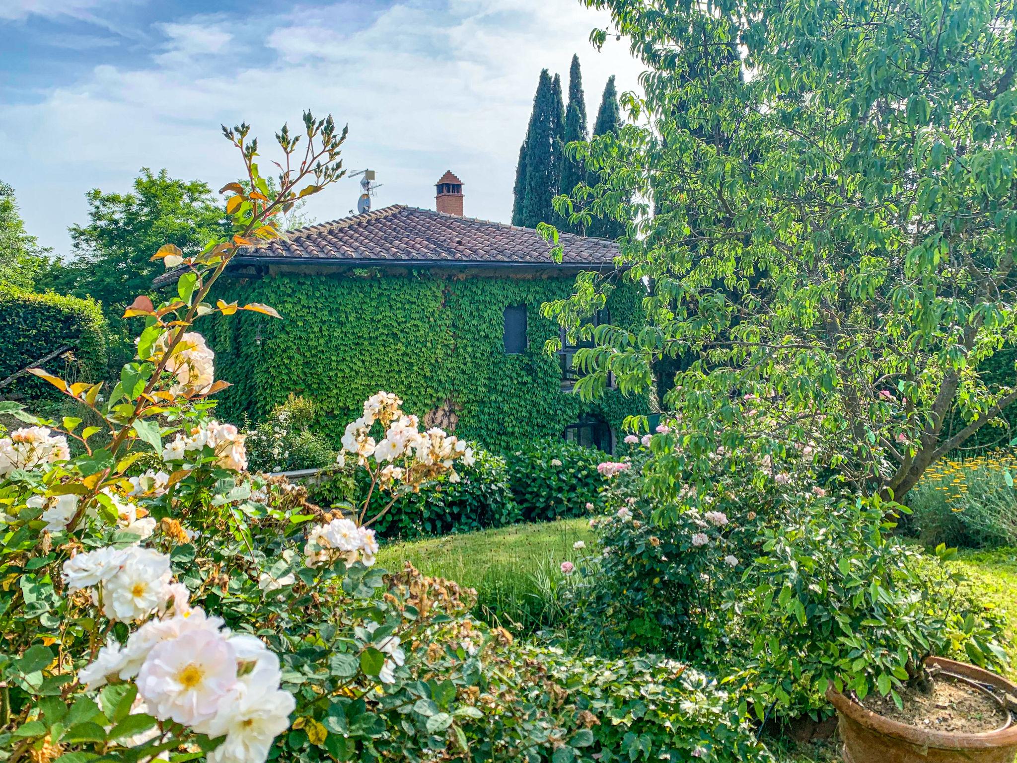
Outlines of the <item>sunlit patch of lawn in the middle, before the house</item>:
M560 565L575 562L577 540L591 542L586 519L512 525L496 530L382 544L378 563L420 572L477 590L477 617L516 633L553 627L562 610Z

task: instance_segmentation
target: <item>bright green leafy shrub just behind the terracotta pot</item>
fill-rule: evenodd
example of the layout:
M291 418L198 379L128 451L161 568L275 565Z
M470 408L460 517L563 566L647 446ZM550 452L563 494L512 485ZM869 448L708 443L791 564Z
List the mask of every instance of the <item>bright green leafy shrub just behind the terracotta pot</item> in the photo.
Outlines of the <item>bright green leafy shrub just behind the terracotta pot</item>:
M957 654L1000 669L1005 623L964 590L963 576L890 534L895 509L878 498L803 504L762 529L763 552L725 593L736 615L733 660L750 673L746 698L762 718L829 712L829 686L863 699L923 677L929 655Z

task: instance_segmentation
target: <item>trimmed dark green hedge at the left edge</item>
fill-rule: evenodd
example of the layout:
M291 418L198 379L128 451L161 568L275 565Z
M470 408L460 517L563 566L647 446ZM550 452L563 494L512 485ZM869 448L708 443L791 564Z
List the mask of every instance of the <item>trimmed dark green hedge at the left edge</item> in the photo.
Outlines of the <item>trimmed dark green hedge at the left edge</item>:
M98 382L106 375L106 319L94 299L39 294L0 285L0 379L60 347L73 359L46 365L69 382ZM67 365L61 367L60 364ZM52 398L58 393L29 374L0 388L0 397Z

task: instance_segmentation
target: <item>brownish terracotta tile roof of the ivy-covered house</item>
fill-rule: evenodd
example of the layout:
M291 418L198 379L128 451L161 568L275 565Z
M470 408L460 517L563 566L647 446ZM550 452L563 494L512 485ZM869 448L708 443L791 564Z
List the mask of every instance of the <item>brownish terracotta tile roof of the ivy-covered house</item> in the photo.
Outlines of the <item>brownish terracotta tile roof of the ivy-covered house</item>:
M444 179L442 178L442 181ZM562 265L609 266L613 241L561 234ZM531 228L517 228L396 204L287 233L244 256L292 259L393 260L553 265L550 245Z

